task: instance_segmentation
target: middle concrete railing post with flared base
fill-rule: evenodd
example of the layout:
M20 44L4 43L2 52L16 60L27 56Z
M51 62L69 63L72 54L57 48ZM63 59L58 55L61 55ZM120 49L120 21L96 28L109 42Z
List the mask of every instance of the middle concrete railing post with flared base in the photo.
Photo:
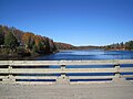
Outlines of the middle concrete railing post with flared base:
M66 77L66 74L64 73L65 70L65 65L61 65L61 76L57 79L58 84L70 84L69 77Z

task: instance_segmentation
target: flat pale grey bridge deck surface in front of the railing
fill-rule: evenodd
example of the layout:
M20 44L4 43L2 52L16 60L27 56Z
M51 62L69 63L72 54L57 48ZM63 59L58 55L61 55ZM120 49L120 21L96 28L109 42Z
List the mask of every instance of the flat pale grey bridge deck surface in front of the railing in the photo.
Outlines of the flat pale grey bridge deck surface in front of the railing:
M49 86L1 84L0 99L133 99L133 84Z

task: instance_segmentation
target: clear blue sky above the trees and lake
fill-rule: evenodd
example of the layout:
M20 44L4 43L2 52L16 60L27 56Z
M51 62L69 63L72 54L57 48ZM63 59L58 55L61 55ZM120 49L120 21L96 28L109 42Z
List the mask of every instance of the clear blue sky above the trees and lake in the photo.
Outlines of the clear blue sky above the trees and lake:
M0 0L0 24L73 45L133 40L133 0Z

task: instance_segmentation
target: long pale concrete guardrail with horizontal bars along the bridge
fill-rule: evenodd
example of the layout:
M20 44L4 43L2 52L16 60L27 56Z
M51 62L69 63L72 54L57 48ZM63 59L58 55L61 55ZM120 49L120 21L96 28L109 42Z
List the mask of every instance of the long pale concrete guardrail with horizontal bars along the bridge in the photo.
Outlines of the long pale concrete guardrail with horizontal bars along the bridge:
M133 59L0 61L0 82L84 84L127 81L125 79L133 79Z

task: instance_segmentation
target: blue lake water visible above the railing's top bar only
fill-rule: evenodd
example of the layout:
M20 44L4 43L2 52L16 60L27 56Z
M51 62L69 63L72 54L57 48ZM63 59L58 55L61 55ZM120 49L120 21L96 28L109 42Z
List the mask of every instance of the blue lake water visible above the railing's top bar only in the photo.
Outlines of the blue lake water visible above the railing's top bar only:
M38 57L40 61L79 61L79 59L133 59L133 51L62 51L55 54Z

